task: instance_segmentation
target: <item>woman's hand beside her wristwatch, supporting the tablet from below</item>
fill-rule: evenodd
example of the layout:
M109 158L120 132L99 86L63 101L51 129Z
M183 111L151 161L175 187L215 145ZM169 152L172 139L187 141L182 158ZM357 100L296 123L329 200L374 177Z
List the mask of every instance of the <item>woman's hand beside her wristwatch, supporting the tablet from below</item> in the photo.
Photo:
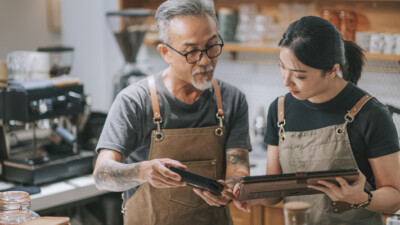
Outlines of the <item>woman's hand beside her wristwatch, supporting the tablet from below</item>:
M318 180L319 185L308 185L307 187L324 192L332 201L359 204L368 199L368 194L364 192L365 176L360 171L358 173L358 179L352 185L347 183L344 178L336 177L339 185L325 180Z

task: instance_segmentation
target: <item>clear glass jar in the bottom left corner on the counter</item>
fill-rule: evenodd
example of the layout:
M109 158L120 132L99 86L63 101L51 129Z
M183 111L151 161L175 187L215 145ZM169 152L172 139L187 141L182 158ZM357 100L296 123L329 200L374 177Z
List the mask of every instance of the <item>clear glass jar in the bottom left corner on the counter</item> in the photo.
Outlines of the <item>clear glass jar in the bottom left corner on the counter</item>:
M39 217L31 210L31 197L27 192L0 193L0 224L20 224Z

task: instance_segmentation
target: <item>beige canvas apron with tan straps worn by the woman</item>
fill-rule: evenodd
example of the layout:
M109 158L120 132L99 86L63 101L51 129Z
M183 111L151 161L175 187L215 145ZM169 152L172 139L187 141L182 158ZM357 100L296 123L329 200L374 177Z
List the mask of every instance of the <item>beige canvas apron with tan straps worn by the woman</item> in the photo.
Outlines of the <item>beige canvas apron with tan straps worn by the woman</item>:
M282 173L358 168L350 146L347 124L354 120L361 107L371 98L370 95L366 95L359 100L345 115L344 124L302 132L285 132L284 97L279 97L279 161ZM365 188L372 189L368 183ZM311 225L383 224L380 213L365 209L349 209L335 213L335 210L339 210L335 206L336 203L332 202L325 194L285 197L284 201L309 202L311 204Z

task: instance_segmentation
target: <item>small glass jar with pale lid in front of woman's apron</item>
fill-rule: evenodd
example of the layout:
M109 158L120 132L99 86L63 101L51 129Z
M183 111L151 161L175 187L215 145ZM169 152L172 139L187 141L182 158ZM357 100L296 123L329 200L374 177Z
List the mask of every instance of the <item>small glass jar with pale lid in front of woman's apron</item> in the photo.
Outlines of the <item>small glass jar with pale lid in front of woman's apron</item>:
M310 204L307 202L293 201L283 205L285 225L308 225L310 217Z

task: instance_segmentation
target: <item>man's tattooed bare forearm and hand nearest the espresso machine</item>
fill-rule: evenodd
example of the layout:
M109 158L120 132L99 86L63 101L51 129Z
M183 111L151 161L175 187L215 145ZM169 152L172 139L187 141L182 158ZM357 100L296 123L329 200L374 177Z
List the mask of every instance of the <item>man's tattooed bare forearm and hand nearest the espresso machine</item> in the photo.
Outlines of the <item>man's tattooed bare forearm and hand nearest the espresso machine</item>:
M167 168L168 165L186 168L172 159L154 159L139 163L121 163L121 154L102 149L97 158L93 172L96 187L109 191L126 191L144 182L157 188L182 187L185 182L181 177Z

